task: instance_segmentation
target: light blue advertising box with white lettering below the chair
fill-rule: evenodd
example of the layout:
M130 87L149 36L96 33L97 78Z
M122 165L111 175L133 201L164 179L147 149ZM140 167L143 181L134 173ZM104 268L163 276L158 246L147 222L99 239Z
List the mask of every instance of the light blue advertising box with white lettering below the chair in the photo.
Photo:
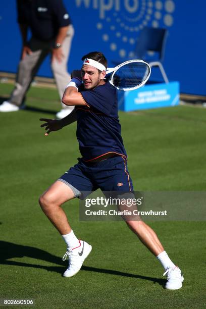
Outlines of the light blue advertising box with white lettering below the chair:
M146 110L179 104L179 82L145 85L133 91L119 91L119 110Z

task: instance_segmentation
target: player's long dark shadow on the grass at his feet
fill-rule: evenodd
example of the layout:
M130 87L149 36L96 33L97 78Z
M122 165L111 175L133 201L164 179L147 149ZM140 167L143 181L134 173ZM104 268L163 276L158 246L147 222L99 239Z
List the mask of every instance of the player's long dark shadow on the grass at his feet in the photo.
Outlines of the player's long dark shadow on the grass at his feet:
M64 262L62 261L61 258L59 258L56 255L50 254L44 250L38 249L38 248L18 245L18 244L7 242L7 241L0 241L0 251L2 252L0 256L0 264L2 265L33 267L37 269L45 269L47 271L56 272L56 273L63 273L65 271L65 267L62 266ZM44 265L36 265L36 264L30 264L30 263L8 261L9 259L23 258L23 256L27 256L32 259L46 261L49 263L58 264L60 266L44 266ZM128 278L148 280L148 281L152 281L153 283L158 283L162 286L164 286L166 283L166 280L164 279L146 277L146 276L135 275L135 274L128 274L128 273L114 271L110 269L82 266L81 270L109 274L109 275L123 276L123 277L128 277Z

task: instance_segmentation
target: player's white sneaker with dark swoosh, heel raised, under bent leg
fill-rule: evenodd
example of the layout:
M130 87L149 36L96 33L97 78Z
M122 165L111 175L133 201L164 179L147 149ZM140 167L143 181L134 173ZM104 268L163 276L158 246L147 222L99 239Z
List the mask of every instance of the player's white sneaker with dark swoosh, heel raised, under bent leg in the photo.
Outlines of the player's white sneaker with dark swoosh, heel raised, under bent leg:
M64 277L72 277L78 273L84 260L87 258L89 253L91 252L91 245L83 240L79 240L79 246L73 249L68 249L68 251L63 256L63 261L67 259L67 255L69 257L69 267L64 272Z

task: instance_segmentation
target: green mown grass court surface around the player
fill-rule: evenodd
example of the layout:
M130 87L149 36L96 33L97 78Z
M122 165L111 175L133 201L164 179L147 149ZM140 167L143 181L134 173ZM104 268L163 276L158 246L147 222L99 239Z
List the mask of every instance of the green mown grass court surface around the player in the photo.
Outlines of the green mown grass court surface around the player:
M0 84L2 100L13 86ZM80 156L75 124L44 136L39 118L60 109L57 91L32 87L28 109L0 113L0 298L36 308L205 307L205 222L151 222L185 281L163 288L164 270L124 222L79 222L78 199L64 205L72 228L93 247L82 270L63 278L65 244L40 210L39 195ZM206 188L206 110L179 106L119 113L136 190Z

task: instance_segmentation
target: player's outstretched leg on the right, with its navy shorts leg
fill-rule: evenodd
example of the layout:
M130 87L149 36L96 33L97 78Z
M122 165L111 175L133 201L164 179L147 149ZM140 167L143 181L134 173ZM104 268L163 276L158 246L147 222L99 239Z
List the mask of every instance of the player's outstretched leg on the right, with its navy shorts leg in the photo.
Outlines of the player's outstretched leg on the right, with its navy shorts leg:
M118 194L121 192L133 192L132 180L129 176L127 164L124 158L112 158L105 161L102 172L100 173L99 184L102 191L113 191ZM110 172L108 172L110 170ZM111 173L111 170L113 173ZM105 173L105 180L104 180ZM131 219L130 219L131 220ZM137 235L140 241L155 255L161 262L167 274L167 289L179 289L182 286L183 276L180 269L170 260L164 250L156 233L143 221L130 221L125 218L129 228ZM134 219L135 220L135 219ZM165 275L164 274L164 275Z

